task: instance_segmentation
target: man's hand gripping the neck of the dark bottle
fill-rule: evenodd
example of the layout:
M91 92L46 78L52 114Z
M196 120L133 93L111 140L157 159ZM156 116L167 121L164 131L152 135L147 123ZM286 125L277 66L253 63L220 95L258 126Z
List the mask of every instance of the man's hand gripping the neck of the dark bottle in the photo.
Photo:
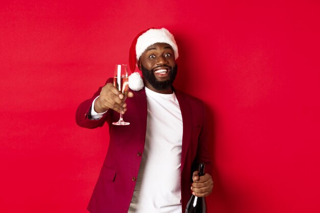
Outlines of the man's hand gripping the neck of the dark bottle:
M208 173L199 177L199 172L195 171L192 176L192 194L197 197L206 197L212 193L213 180Z

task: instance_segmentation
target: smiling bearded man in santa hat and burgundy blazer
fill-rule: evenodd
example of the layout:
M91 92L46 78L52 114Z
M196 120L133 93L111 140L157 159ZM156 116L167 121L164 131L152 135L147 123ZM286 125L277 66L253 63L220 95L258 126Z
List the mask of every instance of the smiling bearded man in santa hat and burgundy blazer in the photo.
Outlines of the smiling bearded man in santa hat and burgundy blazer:
M78 107L79 126L109 125L109 148L88 205L90 212L181 213L191 190L198 197L212 192L204 106L172 87L177 57L168 30L140 33L132 42L129 65L133 71L138 65L145 87L130 90L125 102L109 79ZM111 124L118 121L121 106L128 126ZM200 162L205 162L206 174L198 177Z

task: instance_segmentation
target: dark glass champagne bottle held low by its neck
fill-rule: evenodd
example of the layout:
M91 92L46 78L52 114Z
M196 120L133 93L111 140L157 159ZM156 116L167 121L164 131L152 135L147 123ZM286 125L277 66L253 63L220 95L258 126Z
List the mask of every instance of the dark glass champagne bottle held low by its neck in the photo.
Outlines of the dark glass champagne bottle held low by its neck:
M204 163L199 164L199 177L204 175ZM205 213L204 197L192 195L187 203L186 213Z

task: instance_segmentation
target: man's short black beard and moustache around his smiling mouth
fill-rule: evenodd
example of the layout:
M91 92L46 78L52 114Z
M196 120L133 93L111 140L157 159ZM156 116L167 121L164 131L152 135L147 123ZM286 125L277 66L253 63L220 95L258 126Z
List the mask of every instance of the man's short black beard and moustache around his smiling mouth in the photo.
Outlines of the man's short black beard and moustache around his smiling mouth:
M171 66L165 66L168 67L170 70L169 73L169 79L166 81L158 81L155 78L154 75L154 69L147 69L146 67L144 67L141 64L141 71L142 71L142 76L151 84L151 86L153 88L155 88L156 90L164 90L164 89L168 89L169 87L172 86L174 79L177 75L177 69L178 69L178 65L176 64L174 67ZM157 68L157 67L155 67Z

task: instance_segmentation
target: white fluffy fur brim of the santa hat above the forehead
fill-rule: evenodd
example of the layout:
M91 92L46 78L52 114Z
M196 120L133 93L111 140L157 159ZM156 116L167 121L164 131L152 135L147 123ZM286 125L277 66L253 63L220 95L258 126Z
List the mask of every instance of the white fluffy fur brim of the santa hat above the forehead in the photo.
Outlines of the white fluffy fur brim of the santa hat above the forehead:
M174 58L178 58L178 47L173 35L166 28L161 28L150 29L138 38L135 45L136 60L139 61L140 56L145 52L145 50L155 43L170 44L174 52Z

